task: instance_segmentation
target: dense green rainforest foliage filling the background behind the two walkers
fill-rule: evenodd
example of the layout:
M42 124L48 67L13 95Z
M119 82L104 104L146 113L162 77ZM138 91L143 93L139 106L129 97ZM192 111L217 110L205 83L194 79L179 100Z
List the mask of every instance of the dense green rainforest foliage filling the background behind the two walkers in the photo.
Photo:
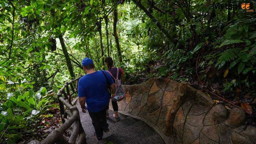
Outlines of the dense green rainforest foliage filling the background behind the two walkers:
M247 2L254 12L235 0L0 0L1 134L17 140L9 131L18 127L15 119L29 119L19 133L36 128L32 121L53 100L43 98L41 87L56 92L84 74L85 57L106 69L107 56L122 67L126 84L187 81L250 104L249 123L256 125L256 3Z

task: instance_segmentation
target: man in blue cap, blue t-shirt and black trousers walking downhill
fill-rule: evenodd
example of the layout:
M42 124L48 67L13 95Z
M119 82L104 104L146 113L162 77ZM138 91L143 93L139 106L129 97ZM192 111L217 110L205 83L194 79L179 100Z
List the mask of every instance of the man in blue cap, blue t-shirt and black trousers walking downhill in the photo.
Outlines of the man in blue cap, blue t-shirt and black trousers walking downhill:
M97 141L102 139L103 131L109 131L106 119L106 109L109 106L110 86L112 98L115 97L115 84L111 76L104 70L95 71L93 61L84 58L82 61L83 71L86 73L78 81L78 96L82 112L86 109L92 119L95 129L94 137ZM87 106L85 106L85 102Z

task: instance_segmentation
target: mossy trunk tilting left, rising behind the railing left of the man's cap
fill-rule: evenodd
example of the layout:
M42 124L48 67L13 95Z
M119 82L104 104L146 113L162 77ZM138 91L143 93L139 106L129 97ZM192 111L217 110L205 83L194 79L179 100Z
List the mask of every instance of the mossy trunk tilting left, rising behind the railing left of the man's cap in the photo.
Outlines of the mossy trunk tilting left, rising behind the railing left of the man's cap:
M74 71L73 71L72 63L71 63L70 57L68 55L67 48L65 46L62 34L59 35L59 39L60 39L60 42L61 42L61 47L62 47L63 54L64 54L65 59L66 59L67 69L70 73L71 78L74 79L75 74L74 74Z

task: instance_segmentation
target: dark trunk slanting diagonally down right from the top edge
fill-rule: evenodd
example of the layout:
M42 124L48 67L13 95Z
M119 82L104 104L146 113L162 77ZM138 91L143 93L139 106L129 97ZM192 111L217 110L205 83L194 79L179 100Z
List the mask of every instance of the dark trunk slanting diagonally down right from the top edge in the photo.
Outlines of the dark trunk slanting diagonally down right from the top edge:
M155 19L150 14L150 12L141 4L140 1L137 1L137 0L132 0L132 1L146 13L146 15L157 25L160 31L162 31L171 42L174 42L174 39L169 35L168 31L164 29L164 27L157 21L157 19Z

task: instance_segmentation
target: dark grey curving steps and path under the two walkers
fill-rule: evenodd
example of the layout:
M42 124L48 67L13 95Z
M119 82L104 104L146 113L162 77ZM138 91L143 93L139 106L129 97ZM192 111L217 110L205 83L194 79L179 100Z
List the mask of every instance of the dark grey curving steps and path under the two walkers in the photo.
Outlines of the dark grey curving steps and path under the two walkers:
M110 131L104 133L103 140L97 142L93 136L94 128L89 113L82 113L80 105L77 104L81 124L86 133L88 144L105 144L112 142L113 144L163 144L163 140L152 128L140 120L119 114L120 121L116 122L113 118L113 111L109 111ZM111 144L112 144L111 143Z

